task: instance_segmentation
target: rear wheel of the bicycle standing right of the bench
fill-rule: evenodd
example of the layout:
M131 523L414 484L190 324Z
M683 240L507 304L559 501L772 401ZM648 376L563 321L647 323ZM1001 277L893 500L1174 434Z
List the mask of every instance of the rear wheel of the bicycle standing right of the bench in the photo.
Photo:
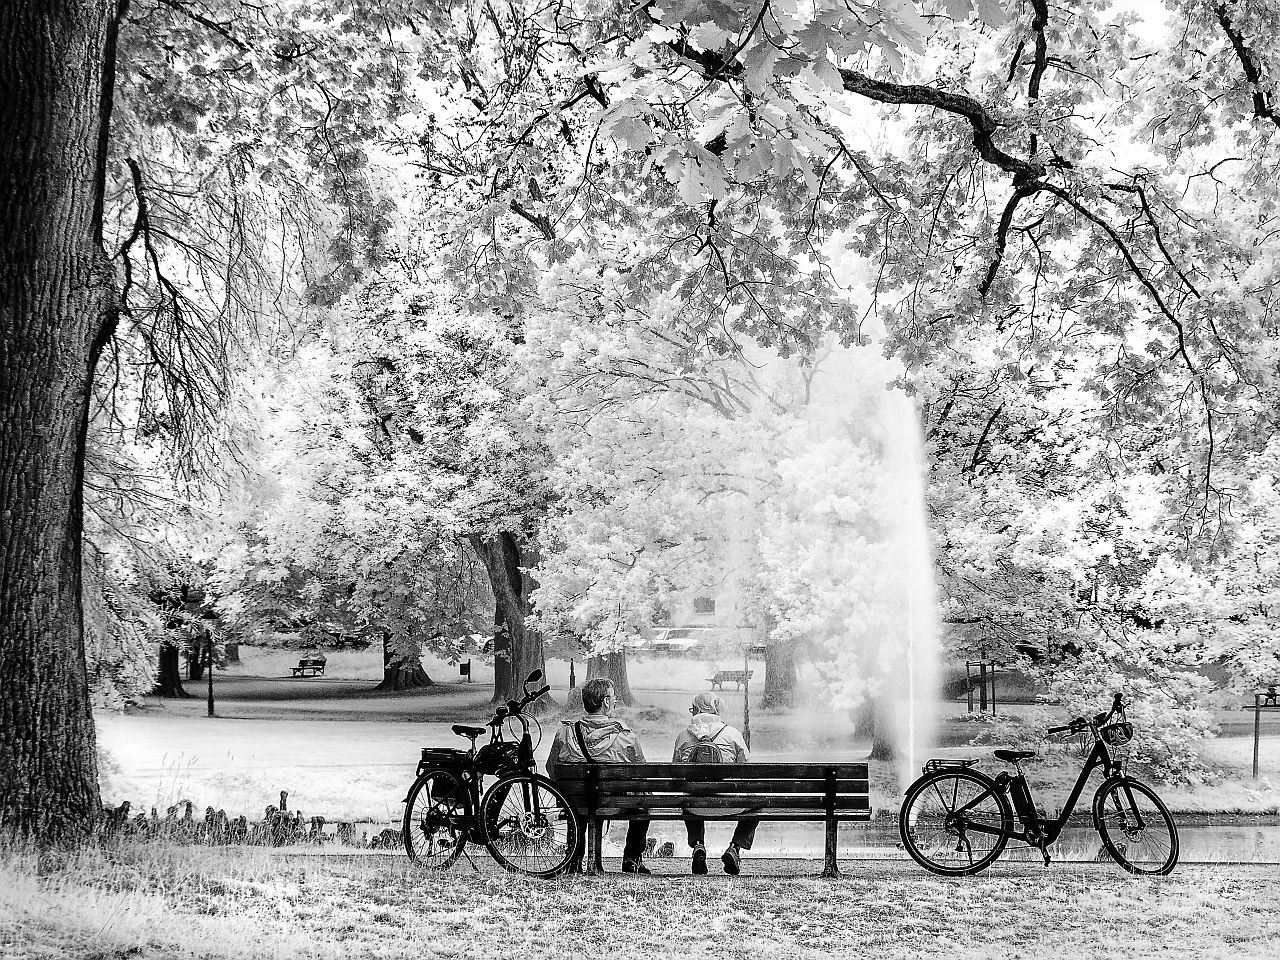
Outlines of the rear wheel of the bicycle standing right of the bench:
M969 810L955 817L955 810ZM996 828L970 833L966 822ZM979 873L1005 851L1014 828L1014 812L996 781L972 769L937 771L916 780L902 797L897 829L902 846L920 867L943 877ZM974 837L980 846L974 849ZM954 849L951 849L954 845ZM947 852L955 856L954 861Z

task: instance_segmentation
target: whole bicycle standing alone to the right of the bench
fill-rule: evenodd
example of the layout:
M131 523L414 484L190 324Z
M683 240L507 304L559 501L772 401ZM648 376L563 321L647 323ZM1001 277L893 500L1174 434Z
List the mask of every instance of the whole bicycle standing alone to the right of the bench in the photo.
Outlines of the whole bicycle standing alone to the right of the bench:
M977 759L924 764L923 776L908 787L899 814L902 845L924 869L950 877L978 873L993 864L1010 840L1038 847L1050 861L1048 847L1066 827L1075 803L1093 771L1102 768L1102 785L1093 795L1093 826L1111 858L1130 873L1165 876L1178 863L1178 827L1169 808L1146 783L1124 772L1114 753L1133 739L1124 700L1116 694L1111 709L1092 719L1075 717L1050 735L1088 733L1093 746L1057 818L1036 806L1021 762L1034 750L996 750L997 760L1014 773L988 777L973 767ZM1010 797L1012 805L1010 805ZM1016 813L1019 827L1014 826Z

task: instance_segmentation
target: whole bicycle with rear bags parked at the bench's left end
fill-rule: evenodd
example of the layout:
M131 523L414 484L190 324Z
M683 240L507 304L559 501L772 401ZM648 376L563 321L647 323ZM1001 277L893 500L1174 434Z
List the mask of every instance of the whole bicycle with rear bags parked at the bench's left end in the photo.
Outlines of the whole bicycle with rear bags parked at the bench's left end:
M499 707L484 727L454 723L452 730L471 741L467 750L422 748L417 778L404 796L402 836L410 859L429 869L445 869L466 845L488 849L502 867L530 877L556 877L580 859L577 812L550 780L538 773L525 708L550 690L530 691L543 678L535 669L525 681L525 695ZM504 728L520 723L518 740ZM479 749L476 740L490 732ZM484 778L497 781L484 790Z

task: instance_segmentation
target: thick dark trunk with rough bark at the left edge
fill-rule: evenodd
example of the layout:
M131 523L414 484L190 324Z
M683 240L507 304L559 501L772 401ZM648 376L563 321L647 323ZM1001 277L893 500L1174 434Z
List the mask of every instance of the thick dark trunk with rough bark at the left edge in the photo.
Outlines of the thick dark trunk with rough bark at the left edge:
M0 823L74 841L101 815L81 535L114 0L0 4Z

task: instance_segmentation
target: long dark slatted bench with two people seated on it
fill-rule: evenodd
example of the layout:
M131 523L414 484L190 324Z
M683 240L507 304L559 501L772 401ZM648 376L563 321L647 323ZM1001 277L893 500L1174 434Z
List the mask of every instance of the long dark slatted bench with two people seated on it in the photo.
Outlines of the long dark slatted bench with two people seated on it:
M823 877L837 877L836 823L869 820L865 763L559 763L556 782L586 823L588 872L603 870L604 820L809 820L827 824Z

